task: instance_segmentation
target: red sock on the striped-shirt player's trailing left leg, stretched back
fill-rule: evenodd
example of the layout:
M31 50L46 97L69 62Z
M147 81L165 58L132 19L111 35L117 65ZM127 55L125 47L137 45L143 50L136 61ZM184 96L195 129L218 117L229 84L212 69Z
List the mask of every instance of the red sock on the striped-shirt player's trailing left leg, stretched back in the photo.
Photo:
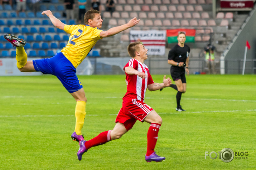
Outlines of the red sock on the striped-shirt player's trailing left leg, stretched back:
M103 144L107 143L108 141L111 140L110 132L111 132L111 130L102 132L95 138L92 138L91 140L86 141L86 143L84 144L85 148L90 149L91 147L103 145Z

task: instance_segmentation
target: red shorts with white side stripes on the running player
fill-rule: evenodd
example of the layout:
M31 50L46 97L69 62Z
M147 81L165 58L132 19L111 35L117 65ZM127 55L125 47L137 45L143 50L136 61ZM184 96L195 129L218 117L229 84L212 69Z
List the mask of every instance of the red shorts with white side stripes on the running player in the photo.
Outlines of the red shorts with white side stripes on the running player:
M116 123L124 124L126 130L130 130L135 124L136 120L143 122L145 117L154 109L148 104L137 99L123 102L122 108L119 110Z

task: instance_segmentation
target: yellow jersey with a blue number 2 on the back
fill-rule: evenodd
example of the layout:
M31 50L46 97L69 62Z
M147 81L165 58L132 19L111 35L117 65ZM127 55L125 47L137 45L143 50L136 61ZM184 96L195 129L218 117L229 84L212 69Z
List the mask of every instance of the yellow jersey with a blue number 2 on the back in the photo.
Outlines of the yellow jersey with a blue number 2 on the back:
M67 46L61 52L77 68L96 42L101 39L100 33L102 30L89 25L65 25L64 31L71 35Z

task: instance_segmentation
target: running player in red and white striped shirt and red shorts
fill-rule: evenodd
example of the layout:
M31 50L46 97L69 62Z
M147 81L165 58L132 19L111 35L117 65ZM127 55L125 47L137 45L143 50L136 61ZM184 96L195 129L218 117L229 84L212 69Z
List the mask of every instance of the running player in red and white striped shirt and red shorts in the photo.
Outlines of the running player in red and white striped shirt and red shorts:
M116 125L113 130L102 132L91 140L80 141L80 147L77 152L78 160L81 160L83 153L91 147L121 138L123 134L133 127L136 120L150 124L145 160L147 162L165 160L165 157L156 155L154 151L162 119L153 108L144 103L144 98L147 88L149 91L159 90L170 86L172 81L166 76L164 76L163 83L155 83L153 81L148 67L144 64L144 61L148 58L148 49L140 42L130 43L127 50L132 58L124 67L127 92L123 97L122 108L116 117Z

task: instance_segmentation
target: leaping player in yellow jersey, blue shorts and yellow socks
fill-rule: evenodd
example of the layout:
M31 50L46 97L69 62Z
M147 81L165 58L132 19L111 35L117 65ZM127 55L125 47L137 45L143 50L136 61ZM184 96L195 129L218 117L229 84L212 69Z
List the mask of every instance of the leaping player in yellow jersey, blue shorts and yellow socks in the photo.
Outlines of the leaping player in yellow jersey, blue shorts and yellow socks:
M84 15L86 25L66 25L53 16L51 11L43 11L42 15L47 15L52 24L58 29L71 34L66 47L54 57L27 61L28 56L24 50L25 40L6 34L5 39L16 47L17 67L21 72L40 71L44 74L56 76L76 100L76 126L71 138L76 141L84 140L82 128L86 115L85 107L87 98L83 86L76 76L76 68L88 55L96 42L104 37L118 34L130 27L135 26L140 20L135 17L127 24L113 27L107 31L99 30L102 26L100 12L97 10L87 11Z

